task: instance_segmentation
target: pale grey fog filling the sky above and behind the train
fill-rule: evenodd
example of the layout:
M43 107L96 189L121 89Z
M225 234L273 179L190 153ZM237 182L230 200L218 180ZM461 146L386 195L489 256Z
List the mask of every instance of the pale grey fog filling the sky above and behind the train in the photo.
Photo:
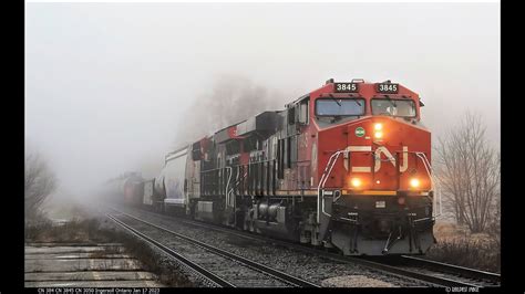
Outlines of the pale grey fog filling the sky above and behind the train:
M25 140L87 199L125 170L326 80L419 93L433 139L482 114L500 145L498 3L25 3ZM207 128L207 125L210 125Z

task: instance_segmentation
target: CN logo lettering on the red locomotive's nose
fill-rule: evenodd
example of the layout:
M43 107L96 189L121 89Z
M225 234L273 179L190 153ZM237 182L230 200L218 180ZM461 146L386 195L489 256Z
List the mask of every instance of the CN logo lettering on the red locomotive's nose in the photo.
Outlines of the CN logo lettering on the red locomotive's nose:
M350 153L371 153L372 151L372 146L348 146L347 151ZM381 146L375 151L373 153L373 158L374 158L374 172L378 172L379 169L381 169L381 162L383 162L382 157L385 157L390 164L392 164L395 167L395 158L392 156L389 149L387 147ZM409 168L409 147L403 146L403 160L399 167L399 171L403 172ZM350 157L348 156L348 153L344 154L344 168L348 171L348 165L350 161ZM352 172L371 172L372 167L357 167L352 166Z

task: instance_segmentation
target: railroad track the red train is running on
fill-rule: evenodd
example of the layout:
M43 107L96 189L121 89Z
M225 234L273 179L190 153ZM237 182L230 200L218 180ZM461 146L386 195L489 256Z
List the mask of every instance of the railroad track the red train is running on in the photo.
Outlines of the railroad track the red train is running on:
M143 210L141 210L143 211ZM159 217L157 213L144 211L145 213L152 213ZM165 216L164 216L165 217ZM330 259L336 262L347 262L347 263L357 263L369 269L379 270L385 273L390 273L401 277L410 277L418 281L423 281L434 286L442 287L494 287L500 286L500 274L488 273L483 271L477 271L474 269L467 269L462 266L456 266L446 263L433 262L429 260L423 260L414 256L383 256L378 258L361 258L361 256L342 256L338 253L331 253L313 249L310 246L291 243L284 240L277 240L272 238L267 238L264 235L233 230L230 228L205 223L200 221L188 220L184 218L173 217L169 218L176 219L178 222L186 223L189 225L195 225L199 228L206 228L209 230L220 231L228 234L235 234L246 239L265 241L275 244L280 244L287 248L294 248L296 250L316 254Z

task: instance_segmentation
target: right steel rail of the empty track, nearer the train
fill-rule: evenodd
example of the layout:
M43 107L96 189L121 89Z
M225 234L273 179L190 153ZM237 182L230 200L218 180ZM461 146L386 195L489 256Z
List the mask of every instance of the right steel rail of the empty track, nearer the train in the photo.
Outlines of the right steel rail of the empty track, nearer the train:
M228 251L225 251L225 250L218 249L218 248L216 248L216 246L206 244L206 243L204 243L204 242L200 242L200 241L195 240L195 239L193 239L193 238L189 238L189 237L187 237L187 235L184 235L184 234L174 232L174 231L172 231L172 230L169 230L169 229L163 228L163 227L157 225L157 224L154 224L154 223L152 223L152 222L142 220L142 219L136 218L136 217L134 217L134 216L131 216L131 214L128 214L128 213L125 213L125 212L122 212L122 211L119 211L119 212L122 213L122 214L124 214L124 216L126 216L126 217L128 217L128 218L132 218L132 219L134 219L134 220L137 220L137 221L140 221L140 222L143 222L143 223L148 224L148 225L151 225L151 227L154 227L154 228L156 228L156 229L158 229L158 230L163 230L163 231L168 232L168 233L171 233L171 234L173 234L173 235L176 235L177 238L181 238L181 239L186 240L186 241L188 241L188 242L191 242L191 243L194 243L195 245L198 245L198 246L200 246L200 248L203 248L203 249L205 249L205 250L207 250L207 251L210 251L210 252L213 252L213 253L215 253L215 254L218 254L218 255L222 255L222 256L224 256L224 258L228 258L228 259L230 259L230 260L234 260L234 261L237 261L237 262L239 262L239 263L243 263L243 264L245 264L245 265L247 265L247 266L249 266L249 267L251 267L251 269L254 269L254 270L257 270L257 271L259 271L259 272L261 272L261 273L268 274L268 275L270 275L270 276L272 276L272 277L275 277L275 279L277 279L277 280L280 280L280 281L282 281L282 282L287 283L287 284L295 285L295 286L299 286L299 287L320 287L319 285L317 285L317 284L315 284L315 283L311 283L311 282L308 282L308 281L306 281L306 280L296 277L296 276L294 276L294 275L290 275L290 274L287 274L287 273L285 273L285 272L281 272L281 271L279 271L279 270L271 269L271 267L269 267L269 266L267 266L267 265L264 265L264 264L261 264L261 263L258 263L258 262L248 260L248 259L246 259L246 258L243 258L243 256L233 254L233 253L230 253L230 252L228 252Z

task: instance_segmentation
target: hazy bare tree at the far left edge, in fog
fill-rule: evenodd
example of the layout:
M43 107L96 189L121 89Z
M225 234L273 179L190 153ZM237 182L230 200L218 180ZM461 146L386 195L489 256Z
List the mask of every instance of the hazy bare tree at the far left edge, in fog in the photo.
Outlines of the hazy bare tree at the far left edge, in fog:
M27 220L39 216L40 206L56 188L56 178L48 164L37 154L25 156L24 212Z

